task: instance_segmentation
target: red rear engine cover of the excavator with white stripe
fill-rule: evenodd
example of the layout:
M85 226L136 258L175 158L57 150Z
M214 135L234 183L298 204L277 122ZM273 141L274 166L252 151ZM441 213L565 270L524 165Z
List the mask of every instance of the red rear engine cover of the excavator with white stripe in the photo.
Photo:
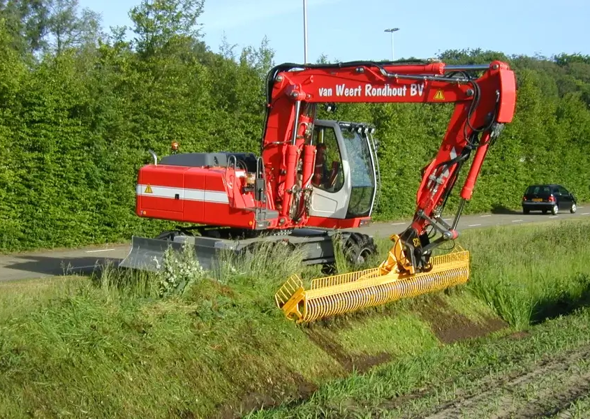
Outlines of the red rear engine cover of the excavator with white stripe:
M249 172L256 173L254 154L165 156L158 164L140 168L135 212L153 219L256 228L256 209L261 205L255 198L254 188L246 187ZM265 214L265 219L268 215Z

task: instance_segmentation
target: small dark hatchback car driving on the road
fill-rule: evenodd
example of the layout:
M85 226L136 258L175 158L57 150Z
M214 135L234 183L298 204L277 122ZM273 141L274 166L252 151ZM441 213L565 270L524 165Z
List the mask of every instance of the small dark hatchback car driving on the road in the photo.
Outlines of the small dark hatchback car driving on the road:
M559 211L568 210L572 214L576 212L576 199L570 191L561 185L539 184L526 188L522 197L522 212L547 211L553 215Z

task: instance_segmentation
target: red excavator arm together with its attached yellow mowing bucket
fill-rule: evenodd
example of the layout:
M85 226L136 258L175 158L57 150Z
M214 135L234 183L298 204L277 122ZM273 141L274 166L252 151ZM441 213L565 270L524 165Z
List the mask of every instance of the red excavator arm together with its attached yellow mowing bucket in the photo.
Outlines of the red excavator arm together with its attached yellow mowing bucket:
M476 72L480 75L473 74ZM318 103L455 104L438 152L422 170L413 221L403 233L391 236L394 244L388 258L374 269L314 279L307 291L301 279L293 275L276 293L277 306L288 318L307 322L467 281L468 252L433 257L432 251L457 238L464 203L471 199L489 146L512 121L515 102L515 74L501 61L452 66L441 62L357 61L274 68L267 79L262 152L265 161L271 163L267 177L286 191L282 196L283 215L291 205L289 191L295 184L300 155L304 156L303 188L309 188L311 182L315 146L309 139ZM457 214L448 224L441 216L443 208L459 171L471 156ZM440 237L431 241L429 227Z

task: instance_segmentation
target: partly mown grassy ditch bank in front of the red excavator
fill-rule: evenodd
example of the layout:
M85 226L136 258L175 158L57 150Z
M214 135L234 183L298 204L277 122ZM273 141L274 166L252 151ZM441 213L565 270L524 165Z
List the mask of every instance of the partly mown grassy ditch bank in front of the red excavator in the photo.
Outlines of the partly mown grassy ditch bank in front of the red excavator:
M226 416L310 395L318 386L297 407L303 416L357 402L377 409L398 392L459 379L470 366L487 372L503 351L530 360L587 339L577 333L585 323L568 319L569 330L540 325L531 347L512 340L503 340L506 348L444 344L508 335L587 302L589 226L468 231L460 240L472 253L468 286L304 327L274 307L276 288L300 270L297 253L286 249L226 263L213 275L171 267L177 282L168 288L154 277L132 281L115 271L94 281L5 284L0 417ZM379 244L383 251L389 246ZM391 362L357 374L385 361Z

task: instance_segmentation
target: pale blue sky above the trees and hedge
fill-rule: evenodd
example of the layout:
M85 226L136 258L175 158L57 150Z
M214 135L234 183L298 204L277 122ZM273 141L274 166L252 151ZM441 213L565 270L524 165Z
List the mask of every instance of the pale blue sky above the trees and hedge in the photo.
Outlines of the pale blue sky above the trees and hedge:
M128 25L140 0L79 0L102 24ZM205 0L203 41L258 47L266 36L274 62L304 62L304 0ZM392 36L384 29L397 27ZM308 60L427 59L444 50L505 54L590 54L590 1L307 0Z

